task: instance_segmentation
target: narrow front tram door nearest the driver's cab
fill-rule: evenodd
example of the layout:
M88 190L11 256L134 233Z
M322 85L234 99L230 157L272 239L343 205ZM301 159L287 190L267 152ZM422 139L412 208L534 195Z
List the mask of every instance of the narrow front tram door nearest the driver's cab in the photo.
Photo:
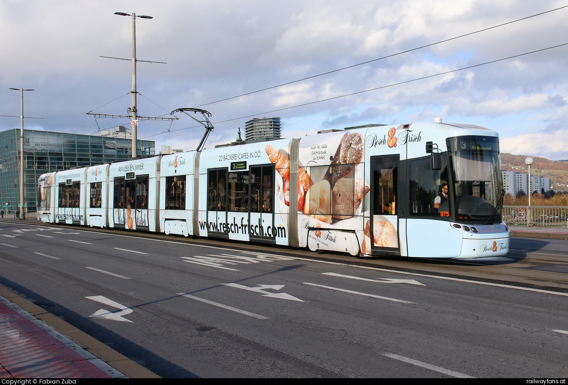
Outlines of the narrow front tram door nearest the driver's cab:
M371 210L365 233L371 241L371 252L377 254L400 255L399 159L399 154L371 157Z

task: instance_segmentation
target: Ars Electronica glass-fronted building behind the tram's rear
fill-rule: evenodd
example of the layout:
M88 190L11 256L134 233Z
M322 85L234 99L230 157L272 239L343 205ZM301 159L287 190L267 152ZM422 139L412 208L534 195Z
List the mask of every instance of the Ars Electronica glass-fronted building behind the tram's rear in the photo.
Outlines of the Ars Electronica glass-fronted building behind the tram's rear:
M24 129L24 206L36 211L41 174L127 161L131 146L130 139ZM154 141L139 140L137 156L154 155L155 146ZM0 132L0 202L6 214L14 214L20 203L19 150L19 128Z

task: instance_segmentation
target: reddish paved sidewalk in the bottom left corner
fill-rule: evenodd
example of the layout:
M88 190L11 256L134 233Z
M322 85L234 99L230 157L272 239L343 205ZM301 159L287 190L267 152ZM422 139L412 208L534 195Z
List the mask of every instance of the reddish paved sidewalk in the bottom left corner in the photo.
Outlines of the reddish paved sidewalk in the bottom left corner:
M0 296L0 378L127 378Z

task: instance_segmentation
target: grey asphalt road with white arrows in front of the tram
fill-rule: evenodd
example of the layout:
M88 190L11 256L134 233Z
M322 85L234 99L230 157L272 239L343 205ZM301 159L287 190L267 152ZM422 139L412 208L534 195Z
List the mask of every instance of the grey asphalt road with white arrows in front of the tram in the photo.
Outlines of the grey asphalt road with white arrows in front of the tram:
M568 290L236 248L0 223L0 283L164 377L568 375Z

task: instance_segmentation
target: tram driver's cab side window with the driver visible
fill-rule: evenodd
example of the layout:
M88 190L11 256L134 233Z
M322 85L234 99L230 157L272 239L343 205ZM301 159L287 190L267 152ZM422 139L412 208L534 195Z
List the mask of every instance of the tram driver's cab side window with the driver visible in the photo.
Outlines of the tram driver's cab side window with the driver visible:
M440 154L441 170L432 170L430 157L410 161L410 214L412 216L449 217L448 157ZM436 208L436 206L438 206Z

